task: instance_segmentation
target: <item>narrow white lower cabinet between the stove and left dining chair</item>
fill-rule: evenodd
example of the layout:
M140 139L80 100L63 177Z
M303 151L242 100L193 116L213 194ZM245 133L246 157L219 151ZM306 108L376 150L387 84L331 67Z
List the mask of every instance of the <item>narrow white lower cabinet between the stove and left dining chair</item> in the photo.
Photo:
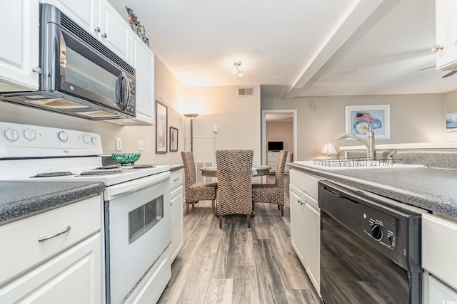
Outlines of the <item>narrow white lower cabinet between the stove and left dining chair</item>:
M171 172L171 262L174 261L183 246L184 219L183 219L183 170Z

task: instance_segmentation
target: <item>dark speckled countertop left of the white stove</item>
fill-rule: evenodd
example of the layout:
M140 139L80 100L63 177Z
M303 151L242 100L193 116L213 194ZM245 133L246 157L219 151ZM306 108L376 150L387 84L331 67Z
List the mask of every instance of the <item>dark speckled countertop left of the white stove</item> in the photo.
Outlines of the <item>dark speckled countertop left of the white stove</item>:
M102 182L0 182L0 225L103 192Z

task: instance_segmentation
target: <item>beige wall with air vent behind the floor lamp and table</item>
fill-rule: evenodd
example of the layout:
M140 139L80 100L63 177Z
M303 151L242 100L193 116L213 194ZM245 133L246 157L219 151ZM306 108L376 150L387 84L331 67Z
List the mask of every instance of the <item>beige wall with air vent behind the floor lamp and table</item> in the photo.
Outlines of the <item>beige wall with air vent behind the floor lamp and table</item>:
M182 113L199 113L194 119L196 157L205 152L201 149L206 147L197 145L204 138L207 145L214 141L214 150L254 150L253 162L260 164L260 87L254 87L254 96L238 97L237 94L236 86L186 88L186 105ZM218 128L216 133L214 126ZM190 137L189 119L186 119L186 137Z

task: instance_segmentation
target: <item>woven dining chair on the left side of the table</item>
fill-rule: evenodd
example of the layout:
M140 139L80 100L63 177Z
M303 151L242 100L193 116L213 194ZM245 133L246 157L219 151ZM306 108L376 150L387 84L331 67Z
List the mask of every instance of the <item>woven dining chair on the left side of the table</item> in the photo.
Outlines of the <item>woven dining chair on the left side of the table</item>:
M199 201L212 201L211 211L215 212L217 183L196 182L196 167L194 154L191 151L181 152L184 164L184 196L186 196L186 214L189 213L189 204L194 208Z

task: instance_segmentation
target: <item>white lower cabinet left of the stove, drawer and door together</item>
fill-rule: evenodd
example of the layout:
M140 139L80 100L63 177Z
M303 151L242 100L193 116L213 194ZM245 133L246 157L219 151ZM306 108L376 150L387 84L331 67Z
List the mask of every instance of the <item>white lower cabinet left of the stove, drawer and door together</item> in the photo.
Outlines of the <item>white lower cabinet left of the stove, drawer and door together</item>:
M104 303L101 196L0 226L0 239L0 303Z

